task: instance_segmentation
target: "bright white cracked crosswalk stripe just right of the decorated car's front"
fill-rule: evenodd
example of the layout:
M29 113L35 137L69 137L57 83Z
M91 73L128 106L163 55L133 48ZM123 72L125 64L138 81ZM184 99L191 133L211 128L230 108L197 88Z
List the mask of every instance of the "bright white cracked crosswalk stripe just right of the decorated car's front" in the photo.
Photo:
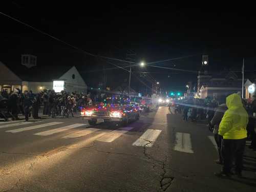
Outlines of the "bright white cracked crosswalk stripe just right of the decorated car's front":
M148 129L139 139L137 139L133 145L134 146L147 146L152 147L154 142L157 140L160 135L161 130L152 130Z

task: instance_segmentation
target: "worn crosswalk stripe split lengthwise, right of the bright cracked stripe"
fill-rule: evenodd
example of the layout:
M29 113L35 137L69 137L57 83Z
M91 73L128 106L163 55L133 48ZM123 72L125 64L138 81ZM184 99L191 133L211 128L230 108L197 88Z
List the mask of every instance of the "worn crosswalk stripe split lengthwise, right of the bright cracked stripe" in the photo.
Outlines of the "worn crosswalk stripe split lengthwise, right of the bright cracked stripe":
M185 153L194 153L189 133L176 133L176 144L174 146L174 150Z

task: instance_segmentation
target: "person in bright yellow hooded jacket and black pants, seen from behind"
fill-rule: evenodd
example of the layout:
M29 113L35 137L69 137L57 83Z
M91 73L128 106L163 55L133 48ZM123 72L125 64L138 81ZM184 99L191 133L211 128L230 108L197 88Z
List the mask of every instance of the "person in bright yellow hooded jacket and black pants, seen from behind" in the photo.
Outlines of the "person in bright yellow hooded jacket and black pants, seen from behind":
M246 126L248 114L238 94L231 94L226 98L228 110L225 112L218 134L223 136L222 141L222 172L216 173L218 177L229 177L232 160L236 162L236 173L242 177L243 153L247 137Z

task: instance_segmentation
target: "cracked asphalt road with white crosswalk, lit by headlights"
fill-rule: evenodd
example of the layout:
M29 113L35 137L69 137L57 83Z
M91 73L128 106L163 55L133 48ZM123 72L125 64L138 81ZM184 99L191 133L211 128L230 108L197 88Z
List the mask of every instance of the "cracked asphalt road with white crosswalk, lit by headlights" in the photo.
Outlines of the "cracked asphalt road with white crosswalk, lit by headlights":
M166 106L127 127L0 120L0 191L254 191L256 154L245 153L246 178L216 178L211 139L205 123Z

